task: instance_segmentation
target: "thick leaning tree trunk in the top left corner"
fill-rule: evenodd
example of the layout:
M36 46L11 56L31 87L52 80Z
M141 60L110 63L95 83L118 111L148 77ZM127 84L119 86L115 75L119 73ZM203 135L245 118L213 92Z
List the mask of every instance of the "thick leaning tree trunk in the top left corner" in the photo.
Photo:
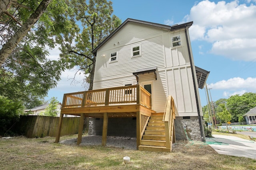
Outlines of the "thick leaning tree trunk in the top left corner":
M0 2L0 12L4 12L2 5L8 5L8 4L15 2L10 0L4 0ZM46 8L50 4L51 0L42 0L36 11L28 18L28 20L20 27L20 29L12 36L9 41L3 45L2 49L0 49L0 66L4 63L4 61L10 56L12 51L15 49L15 47L20 43L22 38L27 35L28 31L32 28L32 26L36 23L36 21L39 20L39 18L42 16L42 14L45 12ZM6 7L7 8L7 7ZM6 9L5 8L5 9ZM0 13L2 14L2 13Z

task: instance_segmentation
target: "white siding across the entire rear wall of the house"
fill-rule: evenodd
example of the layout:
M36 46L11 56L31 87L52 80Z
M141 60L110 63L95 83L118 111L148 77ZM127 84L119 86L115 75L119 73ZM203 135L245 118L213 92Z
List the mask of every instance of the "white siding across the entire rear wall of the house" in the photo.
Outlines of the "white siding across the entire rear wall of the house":
M182 45L172 47L171 38L180 35ZM132 57L132 47L140 45L141 55ZM110 54L117 52L117 61ZM153 82L152 108L164 112L166 97L172 95L177 116L197 115L194 85L184 29L168 31L140 23L127 23L97 51L93 89L137 84L132 74L142 68L157 67L154 74L139 74L138 84Z

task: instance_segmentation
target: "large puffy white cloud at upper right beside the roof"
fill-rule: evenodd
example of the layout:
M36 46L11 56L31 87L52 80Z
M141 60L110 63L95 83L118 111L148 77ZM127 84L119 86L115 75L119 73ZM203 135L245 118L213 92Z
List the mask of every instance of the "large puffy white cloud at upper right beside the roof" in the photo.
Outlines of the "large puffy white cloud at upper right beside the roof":
M256 0L195 4L185 21L194 21L190 38L212 43L210 53L233 60L251 61L256 56Z

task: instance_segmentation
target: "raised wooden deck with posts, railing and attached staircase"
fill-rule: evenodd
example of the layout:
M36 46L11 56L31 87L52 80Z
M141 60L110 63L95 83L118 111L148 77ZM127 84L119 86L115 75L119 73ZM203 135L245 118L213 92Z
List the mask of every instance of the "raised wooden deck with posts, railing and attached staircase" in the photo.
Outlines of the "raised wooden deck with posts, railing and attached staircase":
M82 141L84 117L104 118L102 146L106 145L108 118L136 117L137 149L171 152L177 112L174 100L168 96L164 113L151 108L151 94L140 85L64 94L55 142L60 141L64 114L80 116L77 145Z

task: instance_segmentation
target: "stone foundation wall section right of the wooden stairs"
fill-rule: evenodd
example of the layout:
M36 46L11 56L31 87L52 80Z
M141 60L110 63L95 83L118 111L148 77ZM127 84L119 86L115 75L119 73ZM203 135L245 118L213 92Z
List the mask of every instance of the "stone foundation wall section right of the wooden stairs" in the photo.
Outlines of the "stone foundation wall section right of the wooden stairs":
M190 140L201 141L200 126L197 116L176 117L174 126L176 140L187 140L187 133Z

